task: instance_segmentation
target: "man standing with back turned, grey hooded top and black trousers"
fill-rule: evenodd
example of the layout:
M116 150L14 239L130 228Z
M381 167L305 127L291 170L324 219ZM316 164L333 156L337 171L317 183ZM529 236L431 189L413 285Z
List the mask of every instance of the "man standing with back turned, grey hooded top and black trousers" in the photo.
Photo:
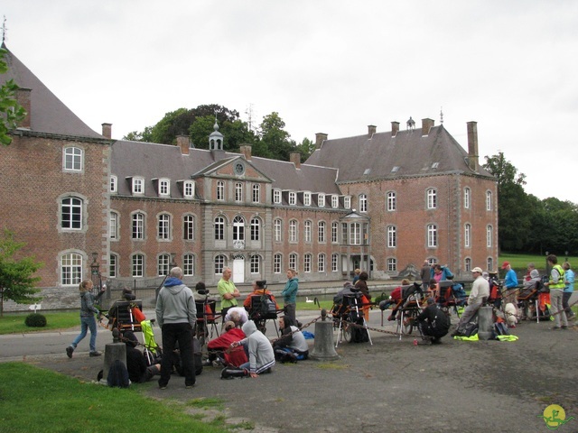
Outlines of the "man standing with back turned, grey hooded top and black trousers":
M197 306L192 290L185 286L181 279L182 269L172 268L156 299L156 323L161 327L164 354L172 354L175 344L179 342L184 384L186 388L192 388L196 380L192 336L197 321ZM166 389L171 372L172 356L163 356L159 379L162 390Z

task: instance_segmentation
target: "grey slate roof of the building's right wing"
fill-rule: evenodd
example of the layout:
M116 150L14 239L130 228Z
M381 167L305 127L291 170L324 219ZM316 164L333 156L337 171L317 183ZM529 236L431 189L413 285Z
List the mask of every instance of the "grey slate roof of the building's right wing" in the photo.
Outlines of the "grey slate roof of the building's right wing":
M421 128L325 140L307 164L339 168L338 182L396 179L449 172L491 177L480 167L474 173L466 152L443 125L433 126L428 135ZM433 163L437 167L433 168ZM397 167L396 170L394 168Z

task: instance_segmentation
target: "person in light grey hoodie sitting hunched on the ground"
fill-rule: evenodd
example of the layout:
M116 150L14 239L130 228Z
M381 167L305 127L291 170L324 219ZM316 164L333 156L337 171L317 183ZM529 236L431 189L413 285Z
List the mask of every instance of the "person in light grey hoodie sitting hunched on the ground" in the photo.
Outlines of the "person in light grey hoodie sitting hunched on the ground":
M271 373L271 367L275 365L275 355L269 339L256 328L253 320L243 325L243 332L247 337L230 345L231 349L239 345L246 347L249 360L239 368L248 370L253 379L259 377L261 373Z

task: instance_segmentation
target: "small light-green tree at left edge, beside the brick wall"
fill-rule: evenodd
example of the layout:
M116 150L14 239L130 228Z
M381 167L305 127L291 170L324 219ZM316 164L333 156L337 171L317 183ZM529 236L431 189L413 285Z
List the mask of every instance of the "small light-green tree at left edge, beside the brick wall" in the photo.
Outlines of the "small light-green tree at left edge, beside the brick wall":
M4 316L5 299L14 300L17 304L33 304L42 299L33 296L40 290L34 285L40 277L33 277L34 272L43 264L35 262L33 257L14 259L14 255L24 246L14 241L14 234L5 229L0 239L0 317Z

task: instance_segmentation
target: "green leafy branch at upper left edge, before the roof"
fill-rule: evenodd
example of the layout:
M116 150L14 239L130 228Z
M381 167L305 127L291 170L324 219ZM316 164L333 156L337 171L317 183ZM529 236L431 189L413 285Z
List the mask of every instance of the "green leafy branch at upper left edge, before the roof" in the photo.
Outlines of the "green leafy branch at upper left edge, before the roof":
M4 57L8 51L0 48L0 74L5 74L8 70ZM7 80L0 86L0 143L7 146L12 143L9 131L16 129L18 122L21 122L26 115L23 106L16 100L18 85L13 79Z

